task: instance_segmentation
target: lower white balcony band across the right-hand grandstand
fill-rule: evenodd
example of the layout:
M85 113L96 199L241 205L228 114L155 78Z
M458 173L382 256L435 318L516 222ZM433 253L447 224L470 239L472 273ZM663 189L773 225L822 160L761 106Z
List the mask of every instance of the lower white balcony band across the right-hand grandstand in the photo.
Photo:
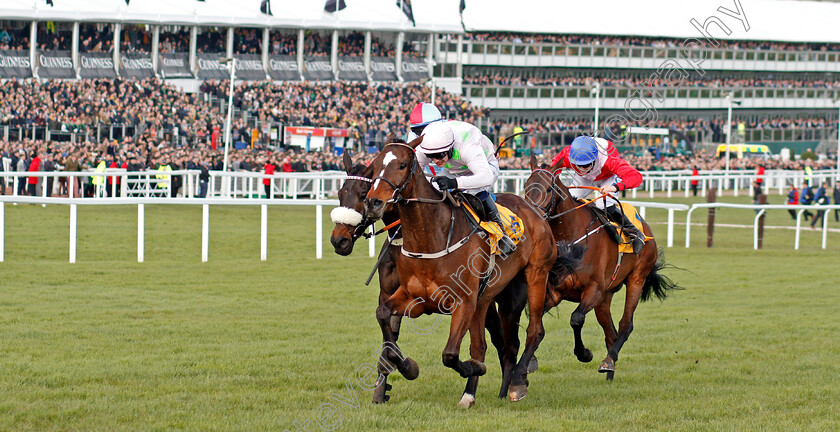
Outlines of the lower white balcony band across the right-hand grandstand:
M593 87L496 86L464 84L464 95L490 109L570 110L595 109ZM641 93L640 93L641 92ZM707 87L602 87L600 109L726 109L732 92L739 108L836 109L837 88L707 88ZM628 106L629 104L629 106Z

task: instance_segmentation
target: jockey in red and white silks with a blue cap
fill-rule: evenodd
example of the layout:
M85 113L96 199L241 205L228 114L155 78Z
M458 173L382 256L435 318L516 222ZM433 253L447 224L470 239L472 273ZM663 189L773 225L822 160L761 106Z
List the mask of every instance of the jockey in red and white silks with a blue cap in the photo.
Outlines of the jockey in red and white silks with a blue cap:
M611 194L642 184L642 174L618 155L612 142L603 138L585 135L575 138L572 145L554 157L551 165L556 166L558 162L563 168L571 168L573 182L570 186L592 186L600 188L601 194ZM592 192L591 189L569 189L569 193L578 199ZM616 207L615 199L609 195L605 198L596 200L595 205L633 237L633 252L638 254L645 245L644 234Z

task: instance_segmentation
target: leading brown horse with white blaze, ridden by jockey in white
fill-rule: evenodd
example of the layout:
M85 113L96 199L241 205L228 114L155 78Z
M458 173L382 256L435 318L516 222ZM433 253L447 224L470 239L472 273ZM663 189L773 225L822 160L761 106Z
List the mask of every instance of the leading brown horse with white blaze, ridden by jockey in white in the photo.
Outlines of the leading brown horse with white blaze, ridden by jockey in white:
M530 311L525 351L519 362L516 362L518 345L507 343L518 341L516 324L506 321L516 315L508 310L516 305L500 303L506 342L502 391L509 384L509 399L518 401L527 394L527 365L545 334L542 325L545 290L549 272L557 261L551 229L522 198L500 195L499 202L522 218L525 239L516 252L494 265L484 236L473 235L476 230L462 209L445 202L445 197L441 198L418 166L414 148L421 140L422 137L417 138L408 145L387 144L371 163L376 177L367 194L366 215L370 219L382 217L386 204L393 201L403 231L403 257L397 263L400 286L376 310L384 343L395 348L388 351L388 359L398 368L407 367L405 363L410 360L396 346L388 321L392 315L412 318L432 313L451 315L443 364L468 378L459 405L472 406L477 378L487 370L484 365L486 311L503 294L504 288L519 278L519 282L527 284ZM491 272L493 280L482 293L480 281ZM464 362L459 359L459 352L467 330L471 359Z

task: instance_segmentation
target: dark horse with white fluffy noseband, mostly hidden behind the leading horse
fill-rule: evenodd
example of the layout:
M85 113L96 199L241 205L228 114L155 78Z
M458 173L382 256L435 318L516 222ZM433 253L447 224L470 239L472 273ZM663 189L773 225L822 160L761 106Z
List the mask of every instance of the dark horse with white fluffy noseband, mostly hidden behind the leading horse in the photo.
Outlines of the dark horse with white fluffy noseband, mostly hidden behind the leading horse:
M391 143L403 141L397 140L393 134L390 134L386 142ZM330 242L335 248L335 252L337 254L347 256L353 252L353 245L356 240L362 236L365 228L373 222L367 220L363 214L364 200L370 190L371 184L373 183L373 171L371 167L365 165L353 165L353 161L347 153L344 154L343 163L345 172L347 173L347 180L338 191L339 207L337 209L333 209L331 215L333 223L335 223L335 228L333 228ZM398 219L399 215L396 209L392 205L389 205L383 213L382 221L386 224L386 226L390 226ZM382 302L387 300L400 285L396 266L400 257L402 257L402 254L400 253L402 248L398 245L401 243L402 234L399 232L398 227L393 227L388 230L388 237L398 241L383 244L382 250L380 251L380 261L377 265L380 289L379 304L382 304ZM516 286L506 291L514 291L521 288L521 286ZM509 296L511 298L518 298L518 294L519 293L511 292ZM519 302L521 306L516 311L516 315L510 318L511 322L514 322L517 325L519 323L519 315L524 307L524 303L524 301ZM395 340L399 339L401 321L402 315L391 316L390 325ZM490 308L487 310L485 325L487 331L490 333L490 340L493 343L493 346L496 347L496 351L499 353L499 361L501 362L504 354L504 340L502 336L501 321L498 313L496 312L495 305L490 305ZM513 346L518 349L518 339L512 343L514 344ZM385 348L389 347L386 346ZM534 358L532 363L529 364L528 372L534 372L536 371L536 368L536 358ZM380 378L373 393L374 403L384 403L388 401L389 396L387 395L387 391L391 388L391 386L387 383L387 379L388 375L393 372L394 369L395 366L390 364L384 355L380 355ZM408 379L414 379L417 377L413 374L415 369L410 368L409 371L410 373L407 377ZM417 371L419 372L419 370Z

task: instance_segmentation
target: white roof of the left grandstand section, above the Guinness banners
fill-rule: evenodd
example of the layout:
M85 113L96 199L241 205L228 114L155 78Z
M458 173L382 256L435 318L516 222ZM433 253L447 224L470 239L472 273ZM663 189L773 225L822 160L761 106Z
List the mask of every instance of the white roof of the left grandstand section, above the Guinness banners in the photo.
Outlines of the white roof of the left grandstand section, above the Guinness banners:
M459 0L425 0L414 7L415 22L394 0L346 0L347 7L324 12L316 0L271 0L269 16L261 0L45 0L0 1L0 16L9 20L128 22L150 24L331 28L354 30L461 33Z

